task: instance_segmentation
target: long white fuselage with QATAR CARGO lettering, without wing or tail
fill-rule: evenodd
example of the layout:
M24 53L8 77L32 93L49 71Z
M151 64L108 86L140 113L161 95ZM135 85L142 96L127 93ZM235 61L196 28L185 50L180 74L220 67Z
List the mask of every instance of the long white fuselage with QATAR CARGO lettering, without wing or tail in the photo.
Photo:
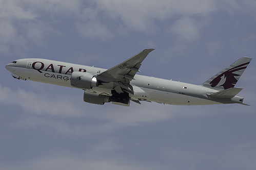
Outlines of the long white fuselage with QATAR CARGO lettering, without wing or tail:
M47 59L19 59L16 63L6 65L12 75L23 80L31 80L42 83L72 87L70 78L73 71L87 72L94 76L101 74L106 69L85 65L71 64ZM243 98L235 96L232 99L213 99L209 94L218 92L201 85L176 82L172 80L135 75L131 81L134 94L131 99L140 101L152 101L171 105L212 105L242 103ZM84 89L89 92L111 95L108 88L93 87Z

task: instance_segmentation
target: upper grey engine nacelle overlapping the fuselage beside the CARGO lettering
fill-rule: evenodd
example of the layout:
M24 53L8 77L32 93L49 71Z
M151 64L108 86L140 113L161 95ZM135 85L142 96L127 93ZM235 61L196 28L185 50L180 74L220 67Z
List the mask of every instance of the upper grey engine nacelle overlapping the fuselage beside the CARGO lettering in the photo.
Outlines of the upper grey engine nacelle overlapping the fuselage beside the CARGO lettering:
M97 79L87 72L73 71L70 84L76 88L91 89L97 86Z

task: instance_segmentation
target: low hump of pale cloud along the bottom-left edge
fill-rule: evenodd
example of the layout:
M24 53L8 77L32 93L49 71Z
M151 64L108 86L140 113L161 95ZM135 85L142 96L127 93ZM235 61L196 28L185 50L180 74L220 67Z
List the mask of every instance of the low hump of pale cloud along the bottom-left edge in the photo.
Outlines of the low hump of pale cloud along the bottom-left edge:
M152 163L132 161L121 156L103 156L101 154L74 154L70 152L60 152L48 154L44 157L35 158L23 163L13 165L2 164L4 169L153 169ZM154 168L156 168L154 166Z

